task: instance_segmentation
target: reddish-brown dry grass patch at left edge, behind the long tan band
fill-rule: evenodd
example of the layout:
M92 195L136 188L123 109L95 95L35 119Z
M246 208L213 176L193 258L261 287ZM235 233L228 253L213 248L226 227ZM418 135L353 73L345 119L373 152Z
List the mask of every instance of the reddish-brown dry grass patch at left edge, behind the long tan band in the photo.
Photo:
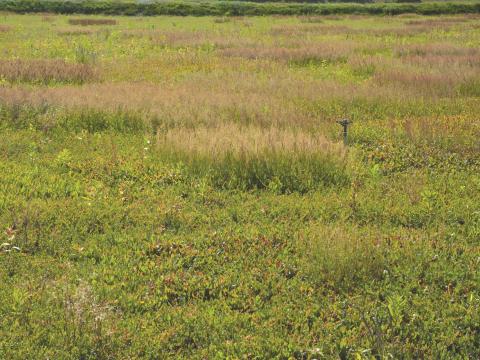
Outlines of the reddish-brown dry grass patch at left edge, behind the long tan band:
M0 77L10 82L84 83L96 79L96 70L86 64L63 60L0 60Z

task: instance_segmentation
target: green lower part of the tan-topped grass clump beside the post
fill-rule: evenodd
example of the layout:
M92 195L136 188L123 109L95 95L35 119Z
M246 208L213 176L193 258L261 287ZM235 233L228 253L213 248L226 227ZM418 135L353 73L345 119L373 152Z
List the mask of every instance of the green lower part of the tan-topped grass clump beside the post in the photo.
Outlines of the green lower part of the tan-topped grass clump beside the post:
M163 159L184 164L192 179L205 179L216 189L268 190L275 194L305 194L332 186L345 187L348 172L342 162L322 153L227 151L213 158L202 153L187 153L162 148Z

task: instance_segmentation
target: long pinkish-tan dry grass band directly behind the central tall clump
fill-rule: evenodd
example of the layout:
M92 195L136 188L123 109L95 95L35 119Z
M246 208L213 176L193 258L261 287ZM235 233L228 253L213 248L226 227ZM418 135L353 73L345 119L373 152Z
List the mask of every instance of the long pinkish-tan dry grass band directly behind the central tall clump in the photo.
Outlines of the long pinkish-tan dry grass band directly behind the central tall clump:
M225 59L228 60L228 59ZM180 83L98 83L41 90L30 87L0 87L0 99L8 104L51 104L66 108L144 111L174 126L255 124L320 129L338 119L341 110L321 104L414 101L418 90L408 87L341 84L277 72L275 78L255 73L191 76ZM313 106L319 102L319 105Z

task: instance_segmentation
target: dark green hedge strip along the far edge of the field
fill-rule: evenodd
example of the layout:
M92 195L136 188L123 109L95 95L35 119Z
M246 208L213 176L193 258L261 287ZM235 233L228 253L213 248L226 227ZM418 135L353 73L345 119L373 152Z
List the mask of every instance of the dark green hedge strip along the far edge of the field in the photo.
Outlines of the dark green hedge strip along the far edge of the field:
M56 0L5 0L1 11L18 13L51 12L58 14L103 15L177 15L177 16L262 16L262 15L332 15L370 14L398 15L404 13L422 15L465 14L480 12L478 3L428 2L419 4L295 4L283 2L151 2L122 1L56 1Z

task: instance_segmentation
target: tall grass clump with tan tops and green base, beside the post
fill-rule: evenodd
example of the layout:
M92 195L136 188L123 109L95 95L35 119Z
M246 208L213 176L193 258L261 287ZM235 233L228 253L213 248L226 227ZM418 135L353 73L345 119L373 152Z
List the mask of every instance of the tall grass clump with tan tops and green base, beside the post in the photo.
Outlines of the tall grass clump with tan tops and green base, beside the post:
M225 189L304 193L349 178L342 145L292 129L173 128L157 133L156 149Z

